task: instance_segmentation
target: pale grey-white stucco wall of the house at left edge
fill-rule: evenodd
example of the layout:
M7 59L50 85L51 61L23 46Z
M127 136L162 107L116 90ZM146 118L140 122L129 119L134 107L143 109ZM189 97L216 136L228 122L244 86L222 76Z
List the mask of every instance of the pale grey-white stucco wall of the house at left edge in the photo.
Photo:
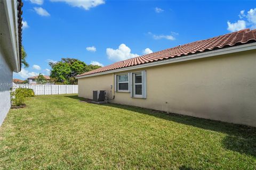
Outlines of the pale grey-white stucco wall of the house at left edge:
M10 88L12 87L12 70L4 59L0 46L0 126L11 107Z

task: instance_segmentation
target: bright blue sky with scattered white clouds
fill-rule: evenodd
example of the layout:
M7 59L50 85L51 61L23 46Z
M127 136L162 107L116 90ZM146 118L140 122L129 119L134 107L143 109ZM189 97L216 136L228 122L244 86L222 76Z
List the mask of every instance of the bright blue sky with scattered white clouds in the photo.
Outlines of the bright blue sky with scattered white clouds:
M131 57L256 28L255 1L23 0L28 68L13 77L49 75L49 62L77 58L106 66Z

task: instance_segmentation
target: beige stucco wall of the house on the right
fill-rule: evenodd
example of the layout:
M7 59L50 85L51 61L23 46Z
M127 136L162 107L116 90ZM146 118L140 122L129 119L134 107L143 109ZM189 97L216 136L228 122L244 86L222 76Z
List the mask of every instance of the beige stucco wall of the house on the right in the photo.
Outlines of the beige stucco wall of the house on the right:
M256 50L144 70L147 99L115 92L114 103L256 126ZM109 95L114 76L78 79L78 85L81 97L92 98L96 89Z

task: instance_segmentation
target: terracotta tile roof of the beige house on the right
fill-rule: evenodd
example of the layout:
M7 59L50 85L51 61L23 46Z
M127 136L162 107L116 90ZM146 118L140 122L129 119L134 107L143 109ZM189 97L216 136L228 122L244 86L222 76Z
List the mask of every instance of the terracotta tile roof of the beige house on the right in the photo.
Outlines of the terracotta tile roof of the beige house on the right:
M185 45L168 48L159 52L142 55L135 58L130 58L128 60L120 61L105 67L101 67L96 70L85 72L83 74L77 75L77 77L110 71L110 70L121 69L124 67L130 67L134 65L166 60L166 59L175 58L175 57L187 56L195 53L207 52L210 50L215 50L220 48L242 45L245 43L253 43L255 41L256 41L256 29L254 30L244 29L237 32L231 32L226 35L213 37L206 40L199 40L193 43L188 43Z

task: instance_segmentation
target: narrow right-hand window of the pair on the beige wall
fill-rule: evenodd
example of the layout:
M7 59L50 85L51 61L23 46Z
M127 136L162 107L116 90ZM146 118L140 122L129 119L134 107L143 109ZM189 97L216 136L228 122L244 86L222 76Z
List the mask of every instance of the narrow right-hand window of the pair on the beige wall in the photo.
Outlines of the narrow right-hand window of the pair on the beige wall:
M133 97L142 97L142 74L133 73Z

